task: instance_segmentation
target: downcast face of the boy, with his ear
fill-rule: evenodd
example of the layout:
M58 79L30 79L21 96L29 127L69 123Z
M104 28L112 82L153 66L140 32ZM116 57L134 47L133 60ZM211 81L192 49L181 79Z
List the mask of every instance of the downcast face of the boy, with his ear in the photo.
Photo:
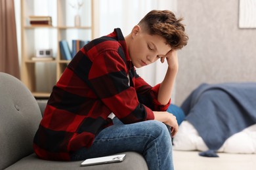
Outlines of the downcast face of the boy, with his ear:
M132 39L129 43L129 55L133 65L137 68L154 63L156 60L165 57L171 50L165 39L160 35L149 35L142 31L139 25L133 28Z

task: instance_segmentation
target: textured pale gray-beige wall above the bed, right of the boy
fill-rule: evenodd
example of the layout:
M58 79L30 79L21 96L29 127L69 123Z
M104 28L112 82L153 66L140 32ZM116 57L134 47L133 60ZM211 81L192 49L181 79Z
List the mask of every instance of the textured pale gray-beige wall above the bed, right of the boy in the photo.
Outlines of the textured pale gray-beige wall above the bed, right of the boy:
M238 27L239 0L179 0L188 45L179 52L176 101L202 83L255 82L256 29Z

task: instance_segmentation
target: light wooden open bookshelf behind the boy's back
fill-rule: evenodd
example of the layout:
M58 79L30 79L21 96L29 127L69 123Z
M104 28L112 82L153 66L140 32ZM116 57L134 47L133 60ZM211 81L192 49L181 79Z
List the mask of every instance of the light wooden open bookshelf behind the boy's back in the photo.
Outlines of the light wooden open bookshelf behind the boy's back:
M72 7L79 2L79 10ZM20 0L21 80L37 98L50 96L70 62L62 59L59 42L93 39L93 0ZM75 24L79 14L80 24ZM30 16L51 16L51 25L31 25ZM38 49L53 50L53 60L34 61Z

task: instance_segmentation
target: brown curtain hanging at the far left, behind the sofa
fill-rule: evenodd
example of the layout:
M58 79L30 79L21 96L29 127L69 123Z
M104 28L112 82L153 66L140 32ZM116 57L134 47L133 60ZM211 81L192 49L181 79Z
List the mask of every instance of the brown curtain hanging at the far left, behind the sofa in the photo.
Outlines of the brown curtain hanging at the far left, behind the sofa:
M0 72L20 78L14 0L0 0Z

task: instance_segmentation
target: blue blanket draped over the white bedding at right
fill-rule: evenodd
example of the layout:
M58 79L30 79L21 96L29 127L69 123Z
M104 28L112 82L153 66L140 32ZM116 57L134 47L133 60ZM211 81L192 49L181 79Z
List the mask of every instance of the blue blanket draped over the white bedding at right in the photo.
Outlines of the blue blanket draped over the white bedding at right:
M218 150L228 137L256 124L256 83L202 84L181 108L208 148Z

